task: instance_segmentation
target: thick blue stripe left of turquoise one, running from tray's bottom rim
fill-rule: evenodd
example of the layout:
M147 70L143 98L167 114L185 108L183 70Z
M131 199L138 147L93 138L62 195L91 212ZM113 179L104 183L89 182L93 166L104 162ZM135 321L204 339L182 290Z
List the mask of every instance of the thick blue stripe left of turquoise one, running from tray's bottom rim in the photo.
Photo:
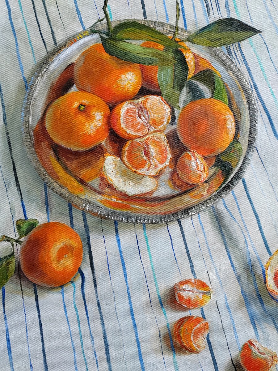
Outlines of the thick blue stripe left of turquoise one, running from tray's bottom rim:
M123 276L125 278L125 283L126 283L126 293L128 294L130 317L131 317L131 320L132 320L133 331L134 331L134 334L135 334L140 366L141 366L141 370L143 371L143 370L145 370L145 365L144 365L144 361L143 361L143 357L142 357L142 351L141 351L141 345L140 345L140 340L139 340L139 335L138 335L138 329L137 329L137 325L136 325L136 321L135 321L133 305L132 305L132 300L131 300L131 296L130 296L130 290L129 290L129 284L128 284L128 275L126 273L125 260L123 259L122 246L121 246L121 243L120 243L120 237L119 237L119 231L118 231L118 222L115 220L114 224L115 224L116 241L117 241L117 244L118 244L120 260L121 260L121 263L122 263Z

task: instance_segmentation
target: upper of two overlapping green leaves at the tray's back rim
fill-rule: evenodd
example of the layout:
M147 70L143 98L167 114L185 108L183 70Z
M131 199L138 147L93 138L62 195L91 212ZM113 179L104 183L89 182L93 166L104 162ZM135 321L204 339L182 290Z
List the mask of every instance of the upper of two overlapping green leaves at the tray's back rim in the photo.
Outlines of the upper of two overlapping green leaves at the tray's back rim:
M118 40L147 40L172 48L181 47L164 33L136 21L117 24L113 28L112 38Z

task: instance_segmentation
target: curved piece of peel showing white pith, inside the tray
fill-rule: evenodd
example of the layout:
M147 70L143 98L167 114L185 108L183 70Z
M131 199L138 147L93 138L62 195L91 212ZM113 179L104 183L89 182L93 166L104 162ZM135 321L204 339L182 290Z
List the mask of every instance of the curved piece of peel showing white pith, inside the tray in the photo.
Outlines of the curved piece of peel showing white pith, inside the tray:
M103 174L113 187L128 196L139 196L152 192L157 187L155 178L135 173L126 167L119 157L106 155Z

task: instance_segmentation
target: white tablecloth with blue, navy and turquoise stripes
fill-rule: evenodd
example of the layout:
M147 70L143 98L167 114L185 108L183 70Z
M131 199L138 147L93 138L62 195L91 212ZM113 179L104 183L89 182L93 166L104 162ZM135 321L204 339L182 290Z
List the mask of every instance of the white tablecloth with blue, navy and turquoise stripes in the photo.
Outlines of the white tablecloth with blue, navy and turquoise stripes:
M278 304L264 285L277 244L278 2L181 0L180 26L195 30L235 17L263 30L227 48L258 104L257 147L244 179L225 200L192 218L160 225L101 221L47 190L21 141L21 105L37 64L61 40L102 17L102 0L1 0L0 232L35 217L63 221L83 239L80 278L62 289L16 273L1 292L0 370L235 370L249 338L278 351ZM110 0L113 19L175 22L174 0ZM0 247L1 248L1 247ZM4 250L1 250L3 256ZM208 282L200 310L207 347L183 355L170 328L185 316L169 293L183 278Z

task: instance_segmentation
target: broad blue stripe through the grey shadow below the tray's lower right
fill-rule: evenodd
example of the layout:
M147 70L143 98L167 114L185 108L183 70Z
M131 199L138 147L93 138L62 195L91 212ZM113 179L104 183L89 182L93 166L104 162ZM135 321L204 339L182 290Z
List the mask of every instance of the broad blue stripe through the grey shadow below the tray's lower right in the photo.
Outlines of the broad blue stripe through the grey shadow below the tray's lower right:
M247 310L247 313L248 313L248 316L249 316L249 319L250 319L250 322L252 324L252 327L254 329L254 332L255 332L255 335L257 337L258 340L260 340L259 338L259 333L258 333L258 329L257 329L257 325L255 323L255 319L254 319L254 315L253 315L253 312L252 312L252 309L251 309L251 306L250 306L250 303L249 303L249 300L248 300L248 296L244 290L244 288L241 286L241 282L240 282L240 279L239 279L239 275L238 275L238 272L236 270L236 267L235 267L235 264L232 260L232 257L231 257L231 253L229 251L229 247L228 247L228 243L227 243L227 240L226 240L226 237L225 237L225 234L223 232L223 229L221 227L221 224L220 224L220 221L219 221L219 218L216 214L216 210L215 210L215 207L212 206L212 211L214 213L214 217L215 217L215 220L216 220L216 223L218 225L218 228L219 228L219 232L221 234L221 237L222 237L222 240L224 242L224 246L225 246L225 250L226 250L226 253L227 253L227 256L229 258L229 261L230 261L230 264L231 264L231 267L232 267L232 270L234 271L234 274L235 274L235 277L236 277L236 280L238 281L238 284L239 284L239 287L241 289L241 295L242 295L242 298L244 299L244 302L245 302L245 306L246 306L246 310Z

